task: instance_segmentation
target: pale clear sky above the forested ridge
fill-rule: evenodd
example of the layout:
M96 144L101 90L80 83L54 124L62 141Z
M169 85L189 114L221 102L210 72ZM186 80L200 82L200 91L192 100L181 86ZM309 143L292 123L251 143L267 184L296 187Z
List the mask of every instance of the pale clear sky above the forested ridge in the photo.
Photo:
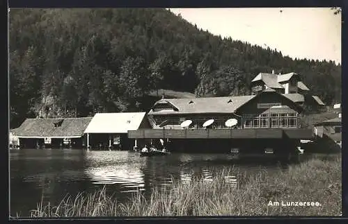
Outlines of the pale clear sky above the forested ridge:
M330 8L171 8L214 35L298 59L341 63L341 14Z

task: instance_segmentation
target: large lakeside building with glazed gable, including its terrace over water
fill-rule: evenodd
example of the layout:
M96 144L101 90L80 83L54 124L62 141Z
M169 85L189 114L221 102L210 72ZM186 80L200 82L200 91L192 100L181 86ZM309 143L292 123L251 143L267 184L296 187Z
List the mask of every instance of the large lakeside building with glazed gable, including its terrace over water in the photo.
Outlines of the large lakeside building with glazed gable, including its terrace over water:
M167 139L173 149L182 150L292 150L300 139L314 137L312 130L300 127L302 111L301 105L271 88L250 96L162 98L148 112L152 129L129 131L128 137ZM188 119L191 126L181 128ZM214 123L204 128L209 119ZM226 127L228 119L237 119L237 126Z

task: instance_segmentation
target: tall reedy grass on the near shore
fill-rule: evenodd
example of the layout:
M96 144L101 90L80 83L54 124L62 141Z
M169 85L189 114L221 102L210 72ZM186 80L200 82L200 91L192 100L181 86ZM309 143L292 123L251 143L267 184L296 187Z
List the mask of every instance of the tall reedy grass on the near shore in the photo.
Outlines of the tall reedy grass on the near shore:
M38 204L31 217L72 216L340 216L341 158L308 160L285 171L246 176L237 174L230 184L224 170L210 183L202 179L188 184L174 182L171 189L153 189L148 198L135 193L126 203L106 194L68 196L60 205ZM318 202L320 206L269 206L269 202Z

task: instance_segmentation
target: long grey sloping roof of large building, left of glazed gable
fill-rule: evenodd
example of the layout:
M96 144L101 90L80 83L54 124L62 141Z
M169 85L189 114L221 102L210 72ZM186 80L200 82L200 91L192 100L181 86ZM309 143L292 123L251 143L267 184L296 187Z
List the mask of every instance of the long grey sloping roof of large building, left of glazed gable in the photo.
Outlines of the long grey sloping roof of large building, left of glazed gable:
M223 96L223 97L202 97L202 98L166 98L163 101L174 105L178 111L153 111L149 114L197 114L197 113L233 113L237 108L247 103L255 95L250 96ZM190 102L193 103L190 103Z

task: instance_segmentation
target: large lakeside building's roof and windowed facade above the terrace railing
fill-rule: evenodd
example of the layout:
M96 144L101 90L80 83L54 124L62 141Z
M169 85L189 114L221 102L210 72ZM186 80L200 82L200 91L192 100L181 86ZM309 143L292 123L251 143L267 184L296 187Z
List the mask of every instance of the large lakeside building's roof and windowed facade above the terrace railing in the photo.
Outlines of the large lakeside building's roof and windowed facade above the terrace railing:
M300 105L283 94L265 89L250 96L164 98L155 103L148 117L157 129L164 121L167 129L182 129L180 123L187 119L195 129L204 129L209 119L214 119L213 129L228 129L228 119L237 119L235 128L299 128L301 111Z

